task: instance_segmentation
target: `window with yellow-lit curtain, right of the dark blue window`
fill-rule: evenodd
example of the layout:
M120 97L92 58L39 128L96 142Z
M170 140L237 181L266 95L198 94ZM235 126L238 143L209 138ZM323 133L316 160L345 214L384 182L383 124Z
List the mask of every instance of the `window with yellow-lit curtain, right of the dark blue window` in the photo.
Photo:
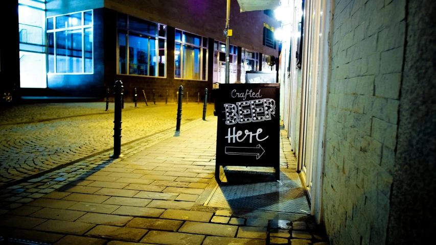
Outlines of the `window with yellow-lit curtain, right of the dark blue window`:
M174 76L180 79L207 80L208 38L175 30Z

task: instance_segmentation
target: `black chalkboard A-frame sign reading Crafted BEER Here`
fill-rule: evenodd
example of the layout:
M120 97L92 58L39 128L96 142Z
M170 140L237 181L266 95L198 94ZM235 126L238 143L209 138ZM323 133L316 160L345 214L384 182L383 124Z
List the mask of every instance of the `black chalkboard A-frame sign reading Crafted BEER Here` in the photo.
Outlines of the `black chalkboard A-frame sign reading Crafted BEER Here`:
M219 166L276 168L279 179L280 84L220 84L217 95Z

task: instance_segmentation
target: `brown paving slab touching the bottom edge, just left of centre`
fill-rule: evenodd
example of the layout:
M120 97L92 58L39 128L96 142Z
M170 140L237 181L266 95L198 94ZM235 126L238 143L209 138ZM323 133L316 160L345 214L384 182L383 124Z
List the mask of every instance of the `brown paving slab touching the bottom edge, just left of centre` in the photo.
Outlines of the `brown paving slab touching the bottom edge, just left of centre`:
M165 245L200 245L203 239L203 235L187 234L180 232L150 231L141 240L141 242Z

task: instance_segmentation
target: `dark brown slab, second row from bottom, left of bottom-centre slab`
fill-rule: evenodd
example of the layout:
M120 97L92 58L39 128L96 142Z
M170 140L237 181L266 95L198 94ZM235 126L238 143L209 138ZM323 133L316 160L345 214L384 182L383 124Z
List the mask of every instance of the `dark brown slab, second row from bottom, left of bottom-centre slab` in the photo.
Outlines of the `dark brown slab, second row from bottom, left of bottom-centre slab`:
M157 218L133 218L126 227L159 231L177 231L183 221Z

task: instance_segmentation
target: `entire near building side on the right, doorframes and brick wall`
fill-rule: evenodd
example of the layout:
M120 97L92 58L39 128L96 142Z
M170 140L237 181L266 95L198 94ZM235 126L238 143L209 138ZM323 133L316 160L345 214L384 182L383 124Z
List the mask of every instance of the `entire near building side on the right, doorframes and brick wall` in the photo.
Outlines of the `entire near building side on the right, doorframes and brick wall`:
M292 35L279 77L282 118L312 214L331 244L423 243L434 227L435 64L428 54L436 5L284 3L290 15L304 13L304 28L283 27L304 29L301 68L293 57L287 62L289 50L299 52L300 36Z

